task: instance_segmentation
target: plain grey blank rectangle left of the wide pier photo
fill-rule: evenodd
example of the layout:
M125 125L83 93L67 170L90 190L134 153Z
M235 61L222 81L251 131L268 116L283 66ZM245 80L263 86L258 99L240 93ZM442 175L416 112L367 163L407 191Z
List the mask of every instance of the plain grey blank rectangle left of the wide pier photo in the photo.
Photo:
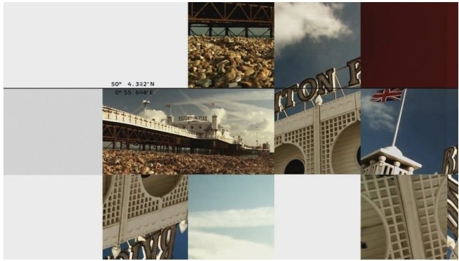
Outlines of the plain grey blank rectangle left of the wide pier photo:
M5 175L102 175L102 90L5 89Z

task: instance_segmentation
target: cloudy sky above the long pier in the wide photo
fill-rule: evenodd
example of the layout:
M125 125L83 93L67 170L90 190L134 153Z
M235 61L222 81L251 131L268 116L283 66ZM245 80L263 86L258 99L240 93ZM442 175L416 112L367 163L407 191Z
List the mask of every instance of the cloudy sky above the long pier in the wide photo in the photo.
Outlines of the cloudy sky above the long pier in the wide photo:
M124 95L104 89L103 104L143 116L142 100L149 100L147 119L163 121L172 104L175 121L178 116L208 116L217 114L220 124L230 129L230 135L241 135L248 145L268 142L274 150L274 120L272 119L274 92L250 89L155 89L153 95ZM151 89L149 89L151 90ZM135 91L134 89L131 91ZM211 106L211 102L215 106Z

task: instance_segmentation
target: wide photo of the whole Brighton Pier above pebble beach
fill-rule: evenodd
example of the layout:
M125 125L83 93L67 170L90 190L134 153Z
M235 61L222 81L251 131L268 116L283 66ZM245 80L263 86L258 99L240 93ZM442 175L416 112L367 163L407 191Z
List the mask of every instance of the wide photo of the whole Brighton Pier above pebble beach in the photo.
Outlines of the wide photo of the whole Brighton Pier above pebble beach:
M273 91L105 89L104 174L273 174Z

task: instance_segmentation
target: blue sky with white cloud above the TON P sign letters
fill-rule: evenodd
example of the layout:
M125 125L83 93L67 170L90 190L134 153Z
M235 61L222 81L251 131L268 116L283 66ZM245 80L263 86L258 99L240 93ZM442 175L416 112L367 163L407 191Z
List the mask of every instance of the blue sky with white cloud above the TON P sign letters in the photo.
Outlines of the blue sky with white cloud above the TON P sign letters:
M332 67L337 69L341 86L347 86L349 70L338 69L360 56L360 4L276 3L274 8L276 91ZM352 92L345 90L346 94ZM338 91L338 95L342 93ZM330 96L324 97L324 102L331 100ZM295 100L298 102L296 95ZM286 112L295 114L303 106L297 103ZM312 102L306 106L312 107ZM284 116L279 114L279 119Z

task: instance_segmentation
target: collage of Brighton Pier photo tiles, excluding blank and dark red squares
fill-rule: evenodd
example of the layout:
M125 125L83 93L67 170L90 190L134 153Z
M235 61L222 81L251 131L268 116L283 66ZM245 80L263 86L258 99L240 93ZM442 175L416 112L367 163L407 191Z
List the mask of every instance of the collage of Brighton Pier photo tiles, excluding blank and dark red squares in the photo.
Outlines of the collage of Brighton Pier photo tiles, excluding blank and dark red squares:
M273 175L352 174L361 259L457 258L458 88L364 86L363 5L189 3L188 86L103 90L102 257L275 258Z

